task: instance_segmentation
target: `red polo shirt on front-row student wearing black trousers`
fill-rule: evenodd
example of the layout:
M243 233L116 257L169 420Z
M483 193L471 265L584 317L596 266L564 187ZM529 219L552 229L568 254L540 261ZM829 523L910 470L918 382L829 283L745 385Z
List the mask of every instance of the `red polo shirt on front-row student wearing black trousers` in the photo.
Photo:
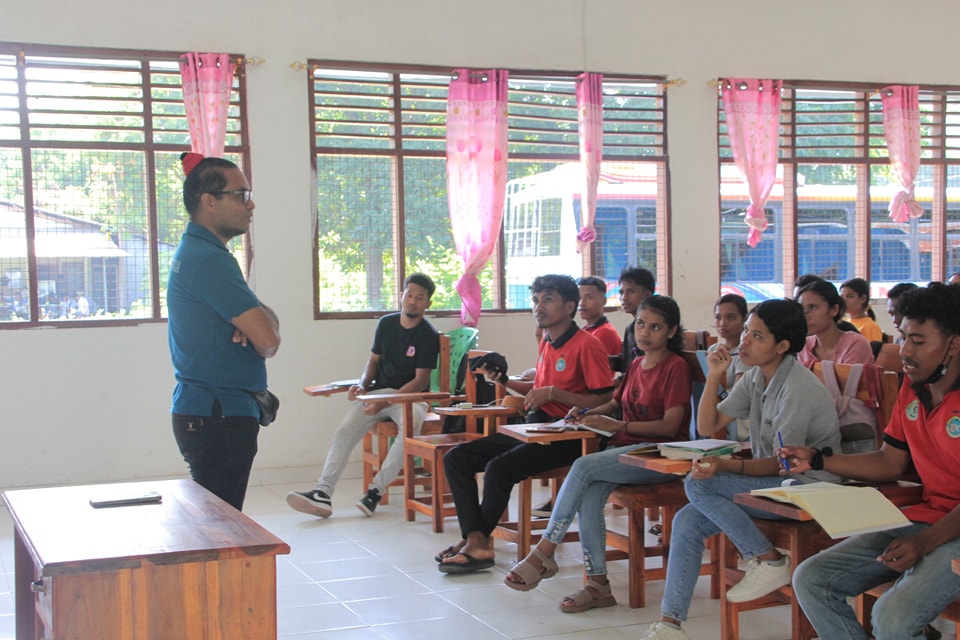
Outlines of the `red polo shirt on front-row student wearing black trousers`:
M541 340L533 387L551 385L579 394L612 390L613 372L603 343L573 323L557 340ZM540 407L554 418L564 417L572 408L556 400Z

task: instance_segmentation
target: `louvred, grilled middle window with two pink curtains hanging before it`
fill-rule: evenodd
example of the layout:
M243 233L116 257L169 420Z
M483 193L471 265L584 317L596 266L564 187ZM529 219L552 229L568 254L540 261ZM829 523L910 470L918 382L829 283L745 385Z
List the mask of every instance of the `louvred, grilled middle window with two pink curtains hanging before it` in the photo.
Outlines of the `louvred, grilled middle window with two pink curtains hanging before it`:
M449 68L311 61L317 176L315 311L370 315L396 308L412 271L437 283L432 309L459 309L462 265L447 204ZM500 242L480 274L485 309L529 308L544 273L599 275L627 265L668 280L662 78L604 79L604 165L597 241L577 253L575 74L511 71L508 182Z

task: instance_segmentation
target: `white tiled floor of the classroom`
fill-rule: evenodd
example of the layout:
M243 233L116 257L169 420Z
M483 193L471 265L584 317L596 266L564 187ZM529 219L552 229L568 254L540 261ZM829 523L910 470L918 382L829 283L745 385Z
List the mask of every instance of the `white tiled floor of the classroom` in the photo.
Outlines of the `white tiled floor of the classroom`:
M309 484L309 483L307 483ZM334 498L335 512L318 520L292 511L284 496L307 486L251 487L245 513L284 539L292 552L278 557L279 635L286 640L624 640L640 637L658 617L662 582L647 586L644 609L626 606L626 562L609 566L616 607L563 614L559 598L582 582L580 546L562 545L560 574L528 593L502 584L513 565L514 546L497 543L497 565L491 571L445 576L433 556L457 537L456 519L447 533L434 534L429 522L403 521L400 493L366 518L354 506L360 496L357 480L344 480ZM611 521L622 518L611 515ZM9 515L0 509L0 640L14 637L13 539ZM720 637L719 605L701 578L684 625L693 640ZM741 638L774 640L789 637L785 607L741 616ZM105 640L105 639L104 639Z

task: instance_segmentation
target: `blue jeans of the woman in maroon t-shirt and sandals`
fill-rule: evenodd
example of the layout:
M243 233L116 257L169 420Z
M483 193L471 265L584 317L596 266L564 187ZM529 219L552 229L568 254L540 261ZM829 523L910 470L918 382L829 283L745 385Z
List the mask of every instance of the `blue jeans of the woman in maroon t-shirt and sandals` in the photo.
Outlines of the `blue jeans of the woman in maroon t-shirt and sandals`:
M567 474L557 502L553 505L550 522L543 537L560 544L563 534L580 517L580 546L583 548L583 564L588 576L605 575L606 523L603 507L610 492L619 484L660 484L679 481L677 476L641 469L620 462L620 454L635 448L635 445L607 449L578 458Z

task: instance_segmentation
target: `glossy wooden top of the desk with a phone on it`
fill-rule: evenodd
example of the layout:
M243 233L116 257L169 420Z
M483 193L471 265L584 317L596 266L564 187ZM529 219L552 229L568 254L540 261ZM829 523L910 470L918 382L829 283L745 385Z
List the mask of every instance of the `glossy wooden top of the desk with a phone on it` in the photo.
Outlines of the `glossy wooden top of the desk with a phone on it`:
M94 509L105 491L156 491L156 504ZM45 576L289 553L290 547L192 480L49 489L3 495Z

